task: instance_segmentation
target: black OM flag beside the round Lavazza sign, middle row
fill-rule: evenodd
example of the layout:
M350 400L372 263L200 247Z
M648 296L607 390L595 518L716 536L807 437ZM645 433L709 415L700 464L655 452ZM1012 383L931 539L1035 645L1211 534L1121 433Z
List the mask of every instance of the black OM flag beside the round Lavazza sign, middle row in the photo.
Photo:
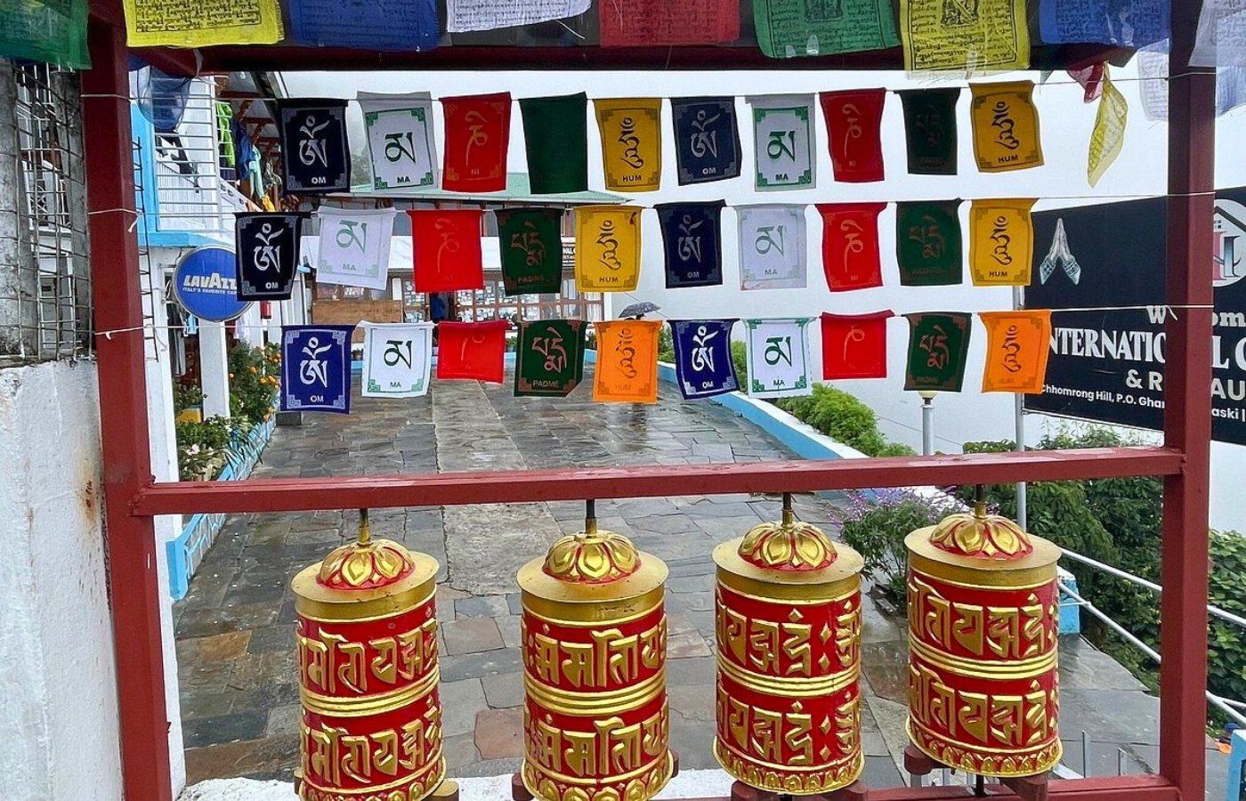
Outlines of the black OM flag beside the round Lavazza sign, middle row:
M302 214L237 214L238 300L289 300L299 269Z

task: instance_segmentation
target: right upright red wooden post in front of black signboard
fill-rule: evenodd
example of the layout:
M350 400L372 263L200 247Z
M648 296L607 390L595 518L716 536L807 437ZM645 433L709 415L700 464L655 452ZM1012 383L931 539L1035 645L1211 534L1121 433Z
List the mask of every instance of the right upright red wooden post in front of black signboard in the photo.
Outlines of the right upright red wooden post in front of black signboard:
M1160 604L1160 774L1201 801L1207 703L1207 505L1211 460L1211 222L1215 214L1215 70L1190 64L1202 2L1172 2L1169 81L1165 443L1185 471L1164 480ZM1190 306L1209 306L1194 309Z

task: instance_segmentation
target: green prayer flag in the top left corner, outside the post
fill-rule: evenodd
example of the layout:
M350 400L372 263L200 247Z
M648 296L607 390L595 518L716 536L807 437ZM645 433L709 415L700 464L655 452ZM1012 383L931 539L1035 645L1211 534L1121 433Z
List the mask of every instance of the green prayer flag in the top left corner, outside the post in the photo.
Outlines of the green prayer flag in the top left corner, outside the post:
M88 70L87 0L0 2L0 56Z

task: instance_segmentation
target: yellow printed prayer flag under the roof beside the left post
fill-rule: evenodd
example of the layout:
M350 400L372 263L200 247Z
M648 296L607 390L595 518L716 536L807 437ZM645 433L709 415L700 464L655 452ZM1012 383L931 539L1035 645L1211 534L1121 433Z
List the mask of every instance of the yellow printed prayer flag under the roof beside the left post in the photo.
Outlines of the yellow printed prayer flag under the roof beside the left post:
M272 45L283 34L277 0L177 2L172 7L168 0L123 0L122 6L131 47Z

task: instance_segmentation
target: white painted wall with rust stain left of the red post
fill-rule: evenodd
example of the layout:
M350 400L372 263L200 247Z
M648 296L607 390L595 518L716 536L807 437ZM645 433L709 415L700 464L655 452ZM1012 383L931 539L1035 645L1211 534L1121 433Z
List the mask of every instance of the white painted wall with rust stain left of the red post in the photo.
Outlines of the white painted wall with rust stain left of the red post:
M0 775L11 801L121 799L90 361L0 370Z

